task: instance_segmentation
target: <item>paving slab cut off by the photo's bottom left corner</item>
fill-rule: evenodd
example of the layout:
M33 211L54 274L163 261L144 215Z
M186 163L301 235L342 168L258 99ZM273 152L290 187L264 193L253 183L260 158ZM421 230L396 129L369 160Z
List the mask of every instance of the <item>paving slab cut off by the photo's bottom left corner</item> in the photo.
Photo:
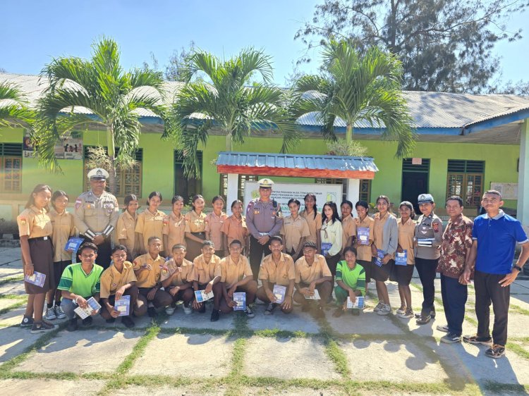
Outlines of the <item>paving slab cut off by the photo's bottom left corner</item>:
M96 395L103 385L102 380L0 380L4 395Z

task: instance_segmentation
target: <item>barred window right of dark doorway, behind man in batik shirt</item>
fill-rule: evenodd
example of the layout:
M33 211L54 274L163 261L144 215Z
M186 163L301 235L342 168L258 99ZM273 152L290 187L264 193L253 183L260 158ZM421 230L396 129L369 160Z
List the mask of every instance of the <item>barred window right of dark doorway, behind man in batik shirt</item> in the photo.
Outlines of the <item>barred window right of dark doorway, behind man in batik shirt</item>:
M448 160L446 198L458 195L466 206L480 206L485 161Z

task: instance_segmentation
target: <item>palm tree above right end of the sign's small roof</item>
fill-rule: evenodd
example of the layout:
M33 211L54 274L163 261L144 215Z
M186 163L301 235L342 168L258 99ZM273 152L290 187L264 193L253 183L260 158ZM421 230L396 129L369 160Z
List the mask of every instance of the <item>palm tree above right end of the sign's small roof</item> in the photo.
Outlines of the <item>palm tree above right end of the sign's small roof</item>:
M296 90L303 94L305 113L317 111L325 140L335 141L334 121L346 123L346 142L353 139L355 122L382 129L382 139L398 142L396 156L408 155L415 133L401 91L401 62L377 47L360 54L346 41L332 39L322 51L321 75L301 77Z

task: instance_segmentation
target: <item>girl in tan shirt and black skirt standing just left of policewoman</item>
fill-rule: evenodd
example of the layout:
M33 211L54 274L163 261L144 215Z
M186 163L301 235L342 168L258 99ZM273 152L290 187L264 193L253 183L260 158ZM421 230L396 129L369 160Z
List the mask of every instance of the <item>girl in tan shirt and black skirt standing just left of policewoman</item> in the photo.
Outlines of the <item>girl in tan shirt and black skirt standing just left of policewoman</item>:
M411 307L411 290L410 283L413 276L413 265L415 256L413 254L413 240L415 239L415 211L413 204L403 201L399 205L399 214L401 218L397 221L399 225L399 246L397 252L406 251L406 265L394 266L394 274L397 283L399 283L399 296L401 297L401 307L396 310L399 318L413 318L413 308Z

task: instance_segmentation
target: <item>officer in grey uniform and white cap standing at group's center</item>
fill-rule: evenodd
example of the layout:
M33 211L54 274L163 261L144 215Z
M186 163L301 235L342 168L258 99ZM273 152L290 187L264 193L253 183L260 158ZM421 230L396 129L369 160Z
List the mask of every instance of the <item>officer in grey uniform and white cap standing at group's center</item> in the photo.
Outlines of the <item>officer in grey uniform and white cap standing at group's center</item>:
M279 235L283 225L281 206L270 199L274 182L261 179L258 183L260 197L252 199L246 208L246 226L250 231L250 266L255 274L259 273L262 254L272 254L268 247L270 237Z

